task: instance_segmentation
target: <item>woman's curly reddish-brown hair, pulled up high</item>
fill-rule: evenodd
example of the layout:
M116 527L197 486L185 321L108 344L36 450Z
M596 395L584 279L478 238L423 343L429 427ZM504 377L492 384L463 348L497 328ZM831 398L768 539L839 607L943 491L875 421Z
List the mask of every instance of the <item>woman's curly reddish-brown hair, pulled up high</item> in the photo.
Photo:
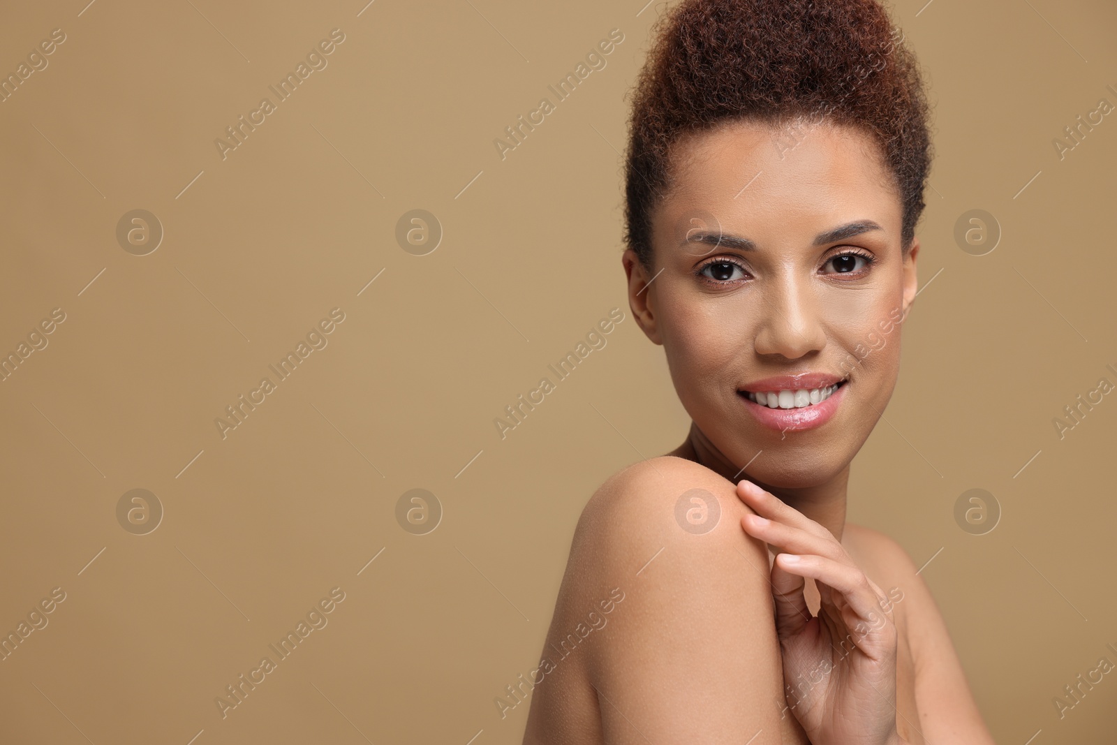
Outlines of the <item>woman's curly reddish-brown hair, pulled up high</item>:
M909 250L930 168L929 107L915 56L876 0L684 0L652 35L624 166L624 242L645 267L671 145L732 120L829 118L868 132L899 192Z

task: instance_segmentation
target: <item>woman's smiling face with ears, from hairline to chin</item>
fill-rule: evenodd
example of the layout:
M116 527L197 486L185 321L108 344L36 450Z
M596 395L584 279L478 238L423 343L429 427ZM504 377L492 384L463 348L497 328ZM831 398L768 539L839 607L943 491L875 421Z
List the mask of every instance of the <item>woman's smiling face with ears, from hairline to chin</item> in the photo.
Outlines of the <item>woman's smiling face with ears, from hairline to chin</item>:
M672 163L652 270L624 255L633 315L723 457L773 487L823 484L896 384L918 252L899 192L873 141L829 122L733 122Z

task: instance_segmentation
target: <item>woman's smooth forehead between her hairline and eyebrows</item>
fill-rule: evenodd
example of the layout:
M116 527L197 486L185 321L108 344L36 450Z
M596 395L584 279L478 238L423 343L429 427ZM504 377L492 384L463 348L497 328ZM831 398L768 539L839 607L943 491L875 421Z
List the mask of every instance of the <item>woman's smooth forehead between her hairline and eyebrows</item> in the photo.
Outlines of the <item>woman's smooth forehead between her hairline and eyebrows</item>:
M679 140L671 176L657 226L708 213L761 240L764 231L813 237L850 219L900 230L895 179L879 145L852 126L729 122Z

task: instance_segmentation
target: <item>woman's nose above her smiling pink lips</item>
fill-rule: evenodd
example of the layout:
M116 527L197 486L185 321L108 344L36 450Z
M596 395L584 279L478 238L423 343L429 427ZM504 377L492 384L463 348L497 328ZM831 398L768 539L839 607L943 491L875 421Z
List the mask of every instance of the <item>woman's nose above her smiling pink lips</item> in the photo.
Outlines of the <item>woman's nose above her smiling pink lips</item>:
M818 308L810 293L786 278L765 293L753 346L757 354L798 360L821 351L827 343Z

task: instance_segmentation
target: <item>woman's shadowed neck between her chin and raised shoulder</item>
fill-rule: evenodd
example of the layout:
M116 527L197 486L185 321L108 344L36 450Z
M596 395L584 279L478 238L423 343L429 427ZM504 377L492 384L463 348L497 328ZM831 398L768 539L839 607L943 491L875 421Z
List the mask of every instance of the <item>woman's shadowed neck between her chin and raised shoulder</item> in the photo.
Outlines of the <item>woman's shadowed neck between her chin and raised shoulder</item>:
M753 478L747 470L742 468L744 464L734 464L726 458L693 421L686 441L668 455L701 464L733 481L734 485L742 479L754 481L762 489L775 495L784 504L827 528L841 541L846 527L846 488L849 483L849 465L831 479L814 486L790 488L773 486ZM763 457L764 455L761 453L758 458L750 461L750 465Z

